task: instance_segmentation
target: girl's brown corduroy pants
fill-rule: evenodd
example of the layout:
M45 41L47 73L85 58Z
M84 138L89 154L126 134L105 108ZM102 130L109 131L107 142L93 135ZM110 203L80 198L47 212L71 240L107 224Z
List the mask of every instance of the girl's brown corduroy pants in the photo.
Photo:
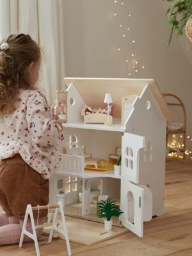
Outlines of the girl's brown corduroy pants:
M48 203L49 180L33 170L19 154L0 161L0 204L8 216L23 218L28 204ZM47 216L47 211L40 212L40 216Z

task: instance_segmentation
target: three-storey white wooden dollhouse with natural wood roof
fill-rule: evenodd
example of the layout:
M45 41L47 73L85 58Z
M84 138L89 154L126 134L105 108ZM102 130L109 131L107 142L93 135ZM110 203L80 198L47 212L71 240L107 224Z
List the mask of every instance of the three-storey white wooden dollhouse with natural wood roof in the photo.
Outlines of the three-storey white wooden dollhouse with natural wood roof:
M51 203L62 190L66 205L76 203L81 191L82 216L86 216L92 194L111 196L124 211L122 225L143 236L143 221L164 212L166 122L172 117L157 84L153 79L65 78L64 82L64 154L51 179ZM102 108L106 93L113 99L112 125L85 124L80 115L84 106ZM109 161L120 154L121 175L115 175ZM90 156L104 160L106 170L95 166L87 170Z

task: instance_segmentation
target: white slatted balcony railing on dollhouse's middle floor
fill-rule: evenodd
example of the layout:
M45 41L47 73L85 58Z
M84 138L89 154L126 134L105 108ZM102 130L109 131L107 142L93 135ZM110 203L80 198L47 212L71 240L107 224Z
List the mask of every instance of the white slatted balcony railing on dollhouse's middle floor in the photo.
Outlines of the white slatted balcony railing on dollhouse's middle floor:
M84 173L84 157L83 156L71 156L61 154L62 164L60 169L65 175L83 175Z

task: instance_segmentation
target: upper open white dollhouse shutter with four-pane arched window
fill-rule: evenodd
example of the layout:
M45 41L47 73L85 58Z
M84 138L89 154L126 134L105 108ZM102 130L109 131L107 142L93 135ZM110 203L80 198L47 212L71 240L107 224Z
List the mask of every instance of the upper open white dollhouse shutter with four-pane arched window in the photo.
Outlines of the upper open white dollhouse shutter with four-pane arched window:
M145 137L125 132L122 136L122 179L139 183L140 149L145 147Z

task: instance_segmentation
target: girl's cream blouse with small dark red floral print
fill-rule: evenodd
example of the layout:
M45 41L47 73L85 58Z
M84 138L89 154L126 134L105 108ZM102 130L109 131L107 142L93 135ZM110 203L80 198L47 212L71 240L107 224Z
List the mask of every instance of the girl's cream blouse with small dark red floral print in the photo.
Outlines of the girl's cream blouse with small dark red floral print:
M32 90L19 90L19 106L0 115L0 160L19 153L44 179L58 170L61 155L58 145L63 130L54 120L45 97Z

